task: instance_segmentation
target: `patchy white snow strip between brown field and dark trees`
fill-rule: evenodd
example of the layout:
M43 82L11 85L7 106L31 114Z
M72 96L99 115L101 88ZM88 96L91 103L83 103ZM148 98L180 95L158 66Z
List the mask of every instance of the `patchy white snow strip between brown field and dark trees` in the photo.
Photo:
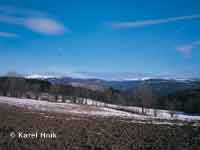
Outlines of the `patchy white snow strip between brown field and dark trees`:
M142 111L140 107L104 104L93 100L87 100L88 105L78 105L0 96L0 104L9 104L44 112L70 113L83 116L119 117L120 120L128 119L131 122L138 123L182 125L184 122L195 122L195 125L200 125L200 116L190 116L182 112L174 112L173 117L171 117L170 111L154 109L145 109L146 115L141 115L139 114ZM97 105L98 107L92 105Z

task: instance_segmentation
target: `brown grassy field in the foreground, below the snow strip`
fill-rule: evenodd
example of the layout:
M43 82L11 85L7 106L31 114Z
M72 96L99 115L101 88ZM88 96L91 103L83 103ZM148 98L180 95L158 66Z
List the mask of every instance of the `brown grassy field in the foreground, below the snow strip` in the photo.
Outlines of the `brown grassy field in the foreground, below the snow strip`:
M25 113L26 112L26 113ZM55 118L44 117L49 115ZM57 139L12 139L12 131L54 131ZM0 106L0 150L198 150L200 128L135 124L116 118L29 113Z

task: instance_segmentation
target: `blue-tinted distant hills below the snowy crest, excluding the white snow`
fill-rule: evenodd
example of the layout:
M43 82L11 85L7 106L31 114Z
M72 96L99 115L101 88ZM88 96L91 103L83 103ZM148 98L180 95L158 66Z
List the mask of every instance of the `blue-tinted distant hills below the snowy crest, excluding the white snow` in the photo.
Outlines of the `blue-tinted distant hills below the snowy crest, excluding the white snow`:
M78 79L78 78L47 78L44 79L53 84L72 85L89 88L92 90L106 90L110 87L114 89L131 91L142 84L149 85L154 92L168 94L186 89L200 88L200 80L176 80L176 79L147 79L147 80L125 80L125 81L106 81L101 79Z

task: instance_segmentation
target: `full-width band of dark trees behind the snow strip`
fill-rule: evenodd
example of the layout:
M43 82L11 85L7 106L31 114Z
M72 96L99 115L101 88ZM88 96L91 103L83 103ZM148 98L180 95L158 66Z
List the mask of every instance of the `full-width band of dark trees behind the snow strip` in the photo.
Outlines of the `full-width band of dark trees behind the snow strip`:
M129 91L120 91L112 87L104 91L95 91L84 87L51 84L43 80L1 77L0 95L61 102L71 100L74 103L78 100L78 103L82 104L83 100L93 99L110 104L200 113L200 90L158 96L145 82Z

